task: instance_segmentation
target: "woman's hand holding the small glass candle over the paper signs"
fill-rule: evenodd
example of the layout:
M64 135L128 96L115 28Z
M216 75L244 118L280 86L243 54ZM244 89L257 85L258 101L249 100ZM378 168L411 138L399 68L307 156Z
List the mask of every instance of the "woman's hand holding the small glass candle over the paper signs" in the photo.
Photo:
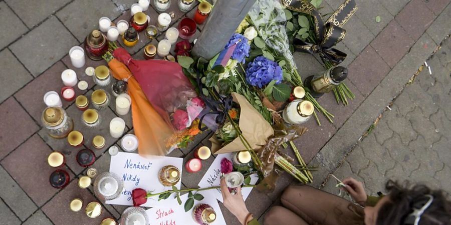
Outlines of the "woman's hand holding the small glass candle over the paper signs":
M229 209L232 214L237 216L238 220L242 224L246 223L246 217L249 214L249 210L246 207L246 203L244 202L243 195L241 194L241 187L237 187L237 193L232 194L225 184L225 179L221 179L221 194L224 206ZM252 219L252 218L251 218Z

